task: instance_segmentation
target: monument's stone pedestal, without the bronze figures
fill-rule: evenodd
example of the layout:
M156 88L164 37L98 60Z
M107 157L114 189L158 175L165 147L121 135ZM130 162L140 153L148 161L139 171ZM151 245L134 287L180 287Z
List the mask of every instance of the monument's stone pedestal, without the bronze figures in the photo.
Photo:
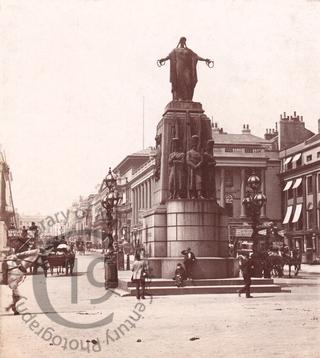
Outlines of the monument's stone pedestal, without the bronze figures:
M212 133L211 121L204 114L201 103L170 102L157 126L157 138L161 138L161 145L157 147L156 157L155 206L143 218L143 244L153 277L172 278L177 263L183 262L181 251L188 247L197 258L194 278L227 278L238 274L235 260L228 257L224 209L215 200L188 199L186 165L183 169L182 199L169 200L168 159L169 154L175 152L173 138L178 138L179 153L186 155L195 135L199 139L196 150L203 154ZM206 178L207 185L212 183L215 188L214 176L208 180L204 169L201 175L202 179Z

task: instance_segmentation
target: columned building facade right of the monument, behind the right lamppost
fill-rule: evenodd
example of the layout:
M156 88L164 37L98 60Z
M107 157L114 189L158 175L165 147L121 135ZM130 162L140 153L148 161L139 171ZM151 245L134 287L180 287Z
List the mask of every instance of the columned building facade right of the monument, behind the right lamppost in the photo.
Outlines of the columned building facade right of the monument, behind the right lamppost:
M277 134L276 130L267 130L265 138L260 138L251 134L247 124L243 125L241 133L229 134L216 123L213 125L217 201L229 216L232 244L249 240L252 234L242 201L247 191L247 179L253 173L260 177L261 192L267 196L261 209L262 221L281 221L280 161L274 140Z

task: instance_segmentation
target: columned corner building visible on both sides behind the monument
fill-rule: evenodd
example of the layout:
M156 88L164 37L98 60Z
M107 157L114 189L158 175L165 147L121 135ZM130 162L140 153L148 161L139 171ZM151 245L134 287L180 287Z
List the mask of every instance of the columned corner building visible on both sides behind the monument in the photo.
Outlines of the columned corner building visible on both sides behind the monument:
M251 226L245 216L242 200L246 194L247 178L253 171L261 178L261 191L268 198L262 208L262 219L277 224L282 221L277 135L276 130L270 130L265 138L257 137L251 134L248 125L244 125L239 134L228 134L217 124L212 127L217 201L229 216L228 236L232 243L251 237ZM114 168L114 172L122 178L120 187L124 193L122 204L117 208L117 230L120 237L122 233L136 244L148 241L144 217L148 216L154 204L159 204L155 203L153 194L155 155L156 150L148 148L125 157Z

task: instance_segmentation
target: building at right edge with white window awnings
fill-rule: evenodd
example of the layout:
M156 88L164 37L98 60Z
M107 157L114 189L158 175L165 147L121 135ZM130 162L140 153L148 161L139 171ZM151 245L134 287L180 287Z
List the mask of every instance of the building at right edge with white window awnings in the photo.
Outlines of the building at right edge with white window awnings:
M288 246L299 248L302 262L320 257L319 133L305 128L302 116L280 119L282 213Z

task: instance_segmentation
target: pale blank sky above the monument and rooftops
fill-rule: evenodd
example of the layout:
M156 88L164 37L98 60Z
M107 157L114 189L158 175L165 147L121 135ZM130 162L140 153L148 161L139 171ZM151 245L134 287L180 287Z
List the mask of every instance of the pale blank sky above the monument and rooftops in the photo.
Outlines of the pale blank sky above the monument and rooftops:
M320 1L0 0L0 143L20 213L66 210L109 166L154 145L185 36L194 101L231 133L320 118Z

